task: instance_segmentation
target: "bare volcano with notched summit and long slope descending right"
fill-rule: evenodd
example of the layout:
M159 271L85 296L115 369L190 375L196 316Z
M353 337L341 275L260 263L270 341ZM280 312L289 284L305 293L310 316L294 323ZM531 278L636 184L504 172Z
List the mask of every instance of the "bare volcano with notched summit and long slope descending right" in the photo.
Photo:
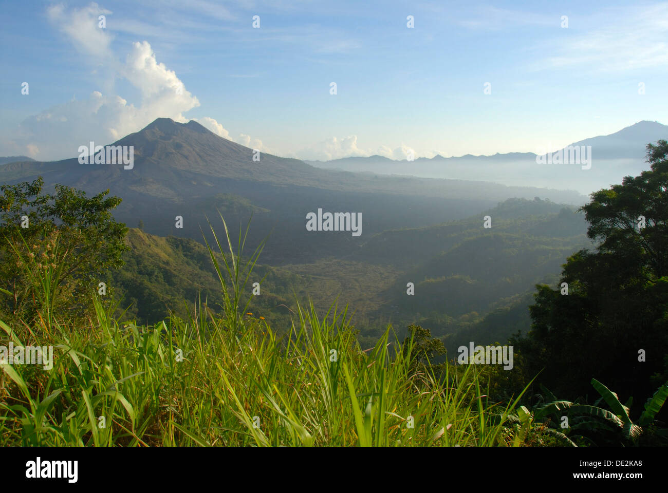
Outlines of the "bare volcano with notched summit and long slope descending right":
M83 143L88 144L88 142ZM98 144L98 143L96 143ZM100 142L98 145L102 145ZM487 180L425 180L368 176L323 170L293 158L261 152L213 134L197 122L186 124L158 118L133 134L107 144L134 146L134 170L122 166L79 164L77 158L55 162L22 162L3 166L0 181L17 182L45 176L47 184L61 183L87 191L132 190L162 200L183 202L212 195L217 179L313 186L327 190L384 192L447 198L480 198L498 202L509 197L544 196L555 202L578 204L585 197L572 190L531 189L499 185ZM73 155L77 154L73 149Z

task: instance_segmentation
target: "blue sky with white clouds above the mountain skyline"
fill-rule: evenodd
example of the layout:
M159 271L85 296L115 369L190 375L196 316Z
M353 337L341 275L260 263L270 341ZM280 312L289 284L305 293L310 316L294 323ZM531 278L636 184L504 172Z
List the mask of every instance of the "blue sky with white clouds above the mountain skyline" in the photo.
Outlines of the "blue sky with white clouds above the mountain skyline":
M2 1L0 156L73 157L160 116L321 160L544 152L668 124L668 3L527 4Z

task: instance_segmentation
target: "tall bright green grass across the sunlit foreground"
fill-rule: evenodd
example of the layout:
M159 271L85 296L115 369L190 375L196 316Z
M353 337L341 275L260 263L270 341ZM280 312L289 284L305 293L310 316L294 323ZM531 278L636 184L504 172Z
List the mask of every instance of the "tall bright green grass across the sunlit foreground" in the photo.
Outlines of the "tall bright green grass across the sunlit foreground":
M244 260L245 235L234 252L224 229L220 242L211 228L218 253L207 242L222 315L200 303L186 320L142 327L114 319L113 303L96 295L86 325L51 311L33 326L0 323L0 344L55 348L51 370L1 365L0 445L512 443L504 424L515 403L490 402L474 365L436 375L415 364L413 341L391 327L363 348L346 310L309 303L279 337L240 307L261 247Z

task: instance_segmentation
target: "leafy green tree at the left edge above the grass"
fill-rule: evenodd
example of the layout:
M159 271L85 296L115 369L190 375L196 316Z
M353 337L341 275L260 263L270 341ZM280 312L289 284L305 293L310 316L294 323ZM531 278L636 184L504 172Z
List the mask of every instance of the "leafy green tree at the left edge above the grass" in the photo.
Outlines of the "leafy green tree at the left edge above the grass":
M35 279L47 274L59 294L57 303L82 309L108 269L122 265L128 248L128 228L110 212L121 199L106 197L109 190L89 198L63 185L47 194L42 186L41 176L0 186L0 287L5 290L0 315L5 319L29 321L43 308Z

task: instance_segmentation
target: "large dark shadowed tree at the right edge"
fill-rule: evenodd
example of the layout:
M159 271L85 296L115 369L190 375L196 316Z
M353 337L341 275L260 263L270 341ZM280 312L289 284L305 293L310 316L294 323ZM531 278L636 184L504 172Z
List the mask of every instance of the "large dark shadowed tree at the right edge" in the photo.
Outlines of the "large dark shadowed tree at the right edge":
M668 373L668 142L649 144L647 162L581 208L598 244L568 258L568 295L537 286L519 341L525 371L544 367L540 380L564 395L584 395L595 377L639 403Z

